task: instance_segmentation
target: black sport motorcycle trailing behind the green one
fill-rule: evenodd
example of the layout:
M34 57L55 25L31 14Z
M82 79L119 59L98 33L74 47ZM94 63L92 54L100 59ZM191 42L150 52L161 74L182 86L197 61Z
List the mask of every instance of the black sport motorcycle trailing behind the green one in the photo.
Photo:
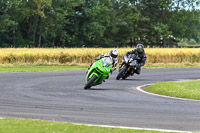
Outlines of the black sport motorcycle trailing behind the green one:
M135 54L130 54L128 57L124 55L124 61L122 62L121 67L119 68L119 73L116 79L126 79L130 75L133 76L136 71L137 64L138 62Z

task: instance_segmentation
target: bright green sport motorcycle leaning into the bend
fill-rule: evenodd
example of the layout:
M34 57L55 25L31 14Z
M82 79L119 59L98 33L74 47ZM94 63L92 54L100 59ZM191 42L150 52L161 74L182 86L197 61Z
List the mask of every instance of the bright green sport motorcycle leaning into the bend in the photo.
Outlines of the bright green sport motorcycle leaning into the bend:
M87 72L84 89L102 84L102 82L108 77L110 73L112 62L113 61L110 57L104 57L93 63Z

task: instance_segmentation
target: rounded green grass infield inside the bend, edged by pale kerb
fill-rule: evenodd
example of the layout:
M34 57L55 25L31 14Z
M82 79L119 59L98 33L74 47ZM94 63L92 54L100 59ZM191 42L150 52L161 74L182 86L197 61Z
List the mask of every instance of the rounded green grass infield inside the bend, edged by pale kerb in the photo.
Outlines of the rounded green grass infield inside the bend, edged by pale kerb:
M160 82L150 85L144 90L166 96L200 100L200 80Z

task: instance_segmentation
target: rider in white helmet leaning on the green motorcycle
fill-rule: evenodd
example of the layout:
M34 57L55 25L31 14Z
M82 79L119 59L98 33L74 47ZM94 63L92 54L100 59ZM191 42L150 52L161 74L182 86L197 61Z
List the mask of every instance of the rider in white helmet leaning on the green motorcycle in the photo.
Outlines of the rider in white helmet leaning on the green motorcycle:
M95 58L94 60L95 61L98 61L98 60L100 60L100 59L102 59L102 58L104 58L104 57L110 57L112 60L113 60L113 63L112 63L112 68L111 68L111 70L110 70L110 72L112 73L113 71L115 71L116 70L116 65L117 65L117 63L118 63L118 59L117 59L117 57L118 57L118 51L116 50L116 49L112 49L109 53L105 53L104 55L100 55L100 56L98 56L97 58ZM91 65L90 65L90 67L93 65L93 63L91 63ZM88 68L88 70L89 70L90 68ZM87 73L87 72L86 72ZM108 75L108 77L106 78L106 79L108 79L109 78L109 75Z

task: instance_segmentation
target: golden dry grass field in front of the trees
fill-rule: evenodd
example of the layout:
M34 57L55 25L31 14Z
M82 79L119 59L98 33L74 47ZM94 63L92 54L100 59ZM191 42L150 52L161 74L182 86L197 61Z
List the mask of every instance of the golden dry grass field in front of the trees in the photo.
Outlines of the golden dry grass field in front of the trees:
M0 65L89 64L111 48L5 48L0 49ZM119 62L132 48L117 48ZM200 48L146 48L146 65L200 64Z

